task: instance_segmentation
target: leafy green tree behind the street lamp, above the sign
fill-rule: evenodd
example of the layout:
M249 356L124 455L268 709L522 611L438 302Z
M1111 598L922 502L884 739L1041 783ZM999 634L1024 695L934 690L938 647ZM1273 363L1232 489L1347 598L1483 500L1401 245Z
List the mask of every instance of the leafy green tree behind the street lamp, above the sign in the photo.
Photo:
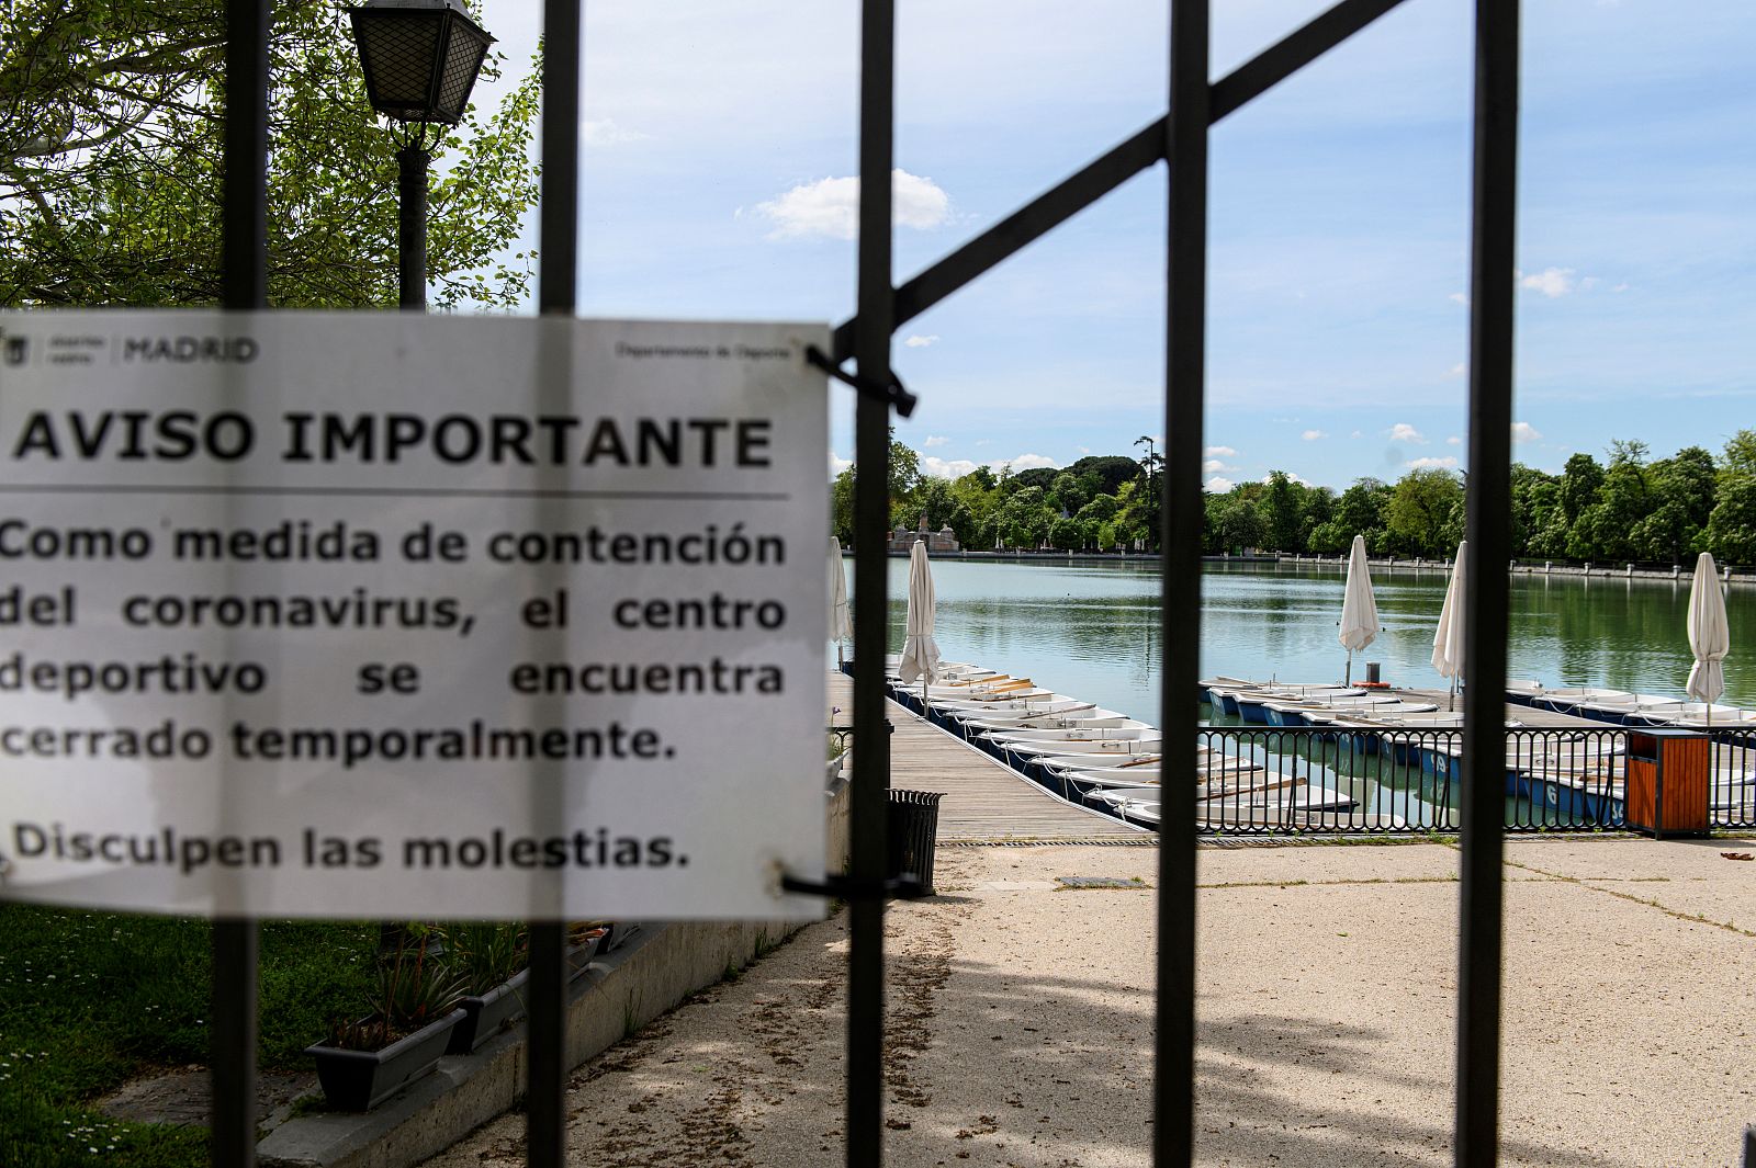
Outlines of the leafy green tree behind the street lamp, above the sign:
M397 130L381 125L341 4L276 0L269 303L397 303ZM220 300L223 7L14 0L0 9L0 305ZM500 58L488 61L495 75ZM509 309L504 261L537 195L537 72L490 116L428 132L435 307Z

